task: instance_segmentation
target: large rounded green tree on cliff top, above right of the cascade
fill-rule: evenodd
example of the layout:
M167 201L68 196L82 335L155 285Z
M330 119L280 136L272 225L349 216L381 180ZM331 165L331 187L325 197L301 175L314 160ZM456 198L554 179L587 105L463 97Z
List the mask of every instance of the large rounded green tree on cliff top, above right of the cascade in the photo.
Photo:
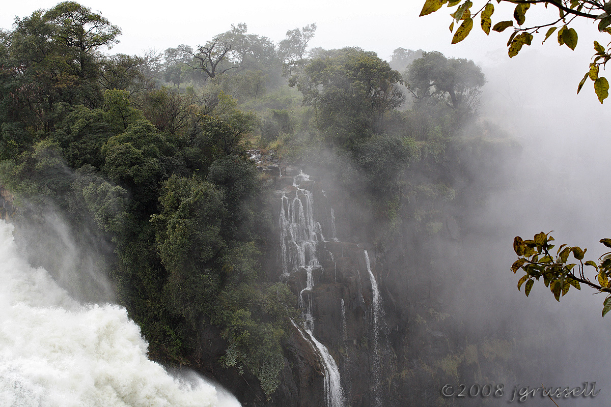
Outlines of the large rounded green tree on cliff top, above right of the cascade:
M296 86L327 140L347 145L383 131L384 115L404 102L400 82L401 75L375 52L342 48L311 60Z

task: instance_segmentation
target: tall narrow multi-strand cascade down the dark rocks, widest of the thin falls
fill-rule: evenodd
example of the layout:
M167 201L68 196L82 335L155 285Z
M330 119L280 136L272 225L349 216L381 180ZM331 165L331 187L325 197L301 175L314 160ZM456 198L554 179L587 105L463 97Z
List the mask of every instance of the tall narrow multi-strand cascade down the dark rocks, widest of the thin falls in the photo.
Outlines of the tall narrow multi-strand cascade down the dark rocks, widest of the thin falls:
M305 269L305 288L299 292L299 308L304 317L303 331L299 332L304 339L312 345L316 353L320 355L324 364L324 400L326 407L344 407L342 383L339 369L329 350L316 340L314 336L314 317L312 315L312 298L309 292L314 287L312 270L320 267L316 258L316 243L324 240L320 223L316 222L313 215L312 192L300 188L304 181L309 181L310 176L301 173L293 178L295 196L287 196L282 193L282 209L280 210L280 255L282 256L282 274ZM307 301L304 296L307 295Z

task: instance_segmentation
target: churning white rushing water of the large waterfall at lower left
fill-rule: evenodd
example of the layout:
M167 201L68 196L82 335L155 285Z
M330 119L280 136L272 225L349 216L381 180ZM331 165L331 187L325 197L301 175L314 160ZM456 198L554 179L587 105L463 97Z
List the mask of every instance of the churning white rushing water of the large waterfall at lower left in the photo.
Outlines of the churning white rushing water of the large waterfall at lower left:
M240 406L194 373L168 375L125 308L70 298L24 261L12 231L0 220L0 406Z

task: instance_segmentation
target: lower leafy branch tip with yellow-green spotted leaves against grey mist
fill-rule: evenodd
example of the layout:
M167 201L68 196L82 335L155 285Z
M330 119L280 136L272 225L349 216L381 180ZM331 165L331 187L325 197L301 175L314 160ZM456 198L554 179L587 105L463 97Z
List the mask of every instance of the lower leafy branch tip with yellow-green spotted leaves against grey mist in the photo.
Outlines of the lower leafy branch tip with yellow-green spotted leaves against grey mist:
M555 254L551 253L554 240L549 233L540 232L533 239L523 240L516 236L513 240L513 250L519 259L511 266L514 273L522 269L526 273L518 281L518 289L524 286L524 294L528 297L535 281L543 278L543 284L549 287L557 301L569 292L571 286L581 289L580 283L604 292L607 297L603 301L602 316L611 311L611 251L602 254L598 261L584 261L588 249L578 246L560 245ZM600 242L611 248L611 239L601 239ZM573 255L571 263L569 256ZM587 268L587 267L591 268ZM596 279L590 279L587 272L593 272Z

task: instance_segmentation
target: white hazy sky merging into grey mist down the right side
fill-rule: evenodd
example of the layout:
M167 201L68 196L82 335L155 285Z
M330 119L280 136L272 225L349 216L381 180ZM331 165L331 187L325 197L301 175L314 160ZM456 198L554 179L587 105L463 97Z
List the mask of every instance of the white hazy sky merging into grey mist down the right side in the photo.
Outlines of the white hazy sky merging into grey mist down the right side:
M510 182L489 196L483 209L471 214L478 233L464 240L464 250L472 255L472 267L455 290L452 300L459 314L472 329L498 330L496 320L509 320L524 332L544 342L532 342L524 351L532 354L538 369L554 358L564 358L565 370L549 371L546 377L530 378L524 367L521 384L536 386L579 386L597 381L602 388L597 403L608 400L611 392L607 350L611 343L611 317L601 319L602 295L571 289L558 304L543 284L535 284L530 298L518 292L519 276L510 272L516 259L511 250L513 237L531 238L539 231L554 230L558 244L588 247L587 258L596 259L603 247L602 237L611 237L609 202L609 122L607 100L599 104L591 81L576 95L593 53L596 37L591 23L577 24L580 34L576 51L559 47L552 37L541 46L541 36L519 56L509 59L505 43L508 33L492 32L489 38L475 24L469 37L450 45L446 9L419 18L419 1L336 1L322 0L220 2L80 1L100 10L111 23L122 28L121 43L112 53L142 54L148 48L159 51L185 43L196 46L214 35L244 22L249 32L269 37L275 43L288 29L316 23L312 47L326 49L356 45L390 59L398 47L441 51L450 57L464 57L479 63L488 79L483 89L483 117L503 126L519 140L523 153L516 162L505 163ZM0 27L9 29L14 16L26 16L35 9L49 9L57 1L20 1L3 4ZM493 21L500 18L497 7ZM536 14L529 11L529 17ZM556 13L550 10L550 13ZM496 17L496 18L495 18ZM530 21L530 20L529 20ZM467 289L467 287L469 287ZM474 289L477 288L477 289ZM464 290L463 290L464 289ZM544 332L541 332L544 331ZM511 337L511 333L508 333ZM527 342L528 343L528 342ZM521 345L519 345L521 346ZM552 368L551 368L552 369ZM522 379L523 377L523 379ZM549 382L549 383L548 383ZM518 383L507 383L507 390ZM506 400L506 398L504 398ZM530 405L541 403L538 399ZM551 405L545 402L544 405ZM596 405L584 400L584 405ZM576 405L563 400L561 405Z

